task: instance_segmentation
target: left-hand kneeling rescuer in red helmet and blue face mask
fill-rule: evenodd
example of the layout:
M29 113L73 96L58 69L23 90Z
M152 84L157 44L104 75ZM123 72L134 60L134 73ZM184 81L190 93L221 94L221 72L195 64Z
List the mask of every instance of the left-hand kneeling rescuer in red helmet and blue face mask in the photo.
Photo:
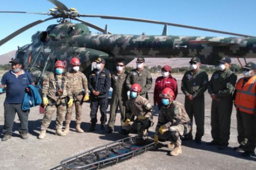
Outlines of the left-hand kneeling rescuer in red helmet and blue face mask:
M153 125L152 105L147 99L140 95L141 90L141 86L137 83L131 86L131 98L126 101L126 120L124 122L125 127L129 127L131 130L138 133L137 144L143 143L143 131ZM136 116L136 119L130 126L131 117L133 115Z

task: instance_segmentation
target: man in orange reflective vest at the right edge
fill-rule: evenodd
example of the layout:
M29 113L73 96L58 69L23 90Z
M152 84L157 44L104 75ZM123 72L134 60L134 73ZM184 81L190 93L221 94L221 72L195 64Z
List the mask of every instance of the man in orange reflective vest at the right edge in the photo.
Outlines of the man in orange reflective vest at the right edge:
M244 151L242 153L244 157L253 156L256 147L255 69L255 64L252 62L242 67L244 77L238 80L234 91L234 106L237 109L238 142L240 144L234 150Z

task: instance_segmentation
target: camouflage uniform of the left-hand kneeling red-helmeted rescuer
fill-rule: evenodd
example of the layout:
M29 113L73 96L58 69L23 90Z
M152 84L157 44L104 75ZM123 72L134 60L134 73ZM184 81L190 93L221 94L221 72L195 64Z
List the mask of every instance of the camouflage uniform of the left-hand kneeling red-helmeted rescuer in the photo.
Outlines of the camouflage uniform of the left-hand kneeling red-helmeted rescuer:
M130 98L126 101L126 117L130 118L132 115L137 116L131 126L131 130L138 132L139 138L143 138L143 131L152 126L153 122L152 105L147 99L138 95L137 98ZM138 116L147 117L145 120L139 120Z

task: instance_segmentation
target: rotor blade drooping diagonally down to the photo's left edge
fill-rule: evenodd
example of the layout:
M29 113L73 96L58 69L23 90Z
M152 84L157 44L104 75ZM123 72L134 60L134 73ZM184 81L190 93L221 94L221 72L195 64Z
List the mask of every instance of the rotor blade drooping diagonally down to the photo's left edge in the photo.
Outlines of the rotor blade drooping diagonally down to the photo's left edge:
M47 19L44 19L44 20L37 20L35 22L30 23L29 25L15 31L14 33L12 33L12 34L8 35L7 37L5 37L4 39L2 39L0 41L0 46L3 45L4 43L6 43L7 41L9 41L10 39L12 39L13 37L19 35L20 33L30 29L31 27L34 27L34 26L38 25L39 23L42 23L42 22L45 22L45 21L48 21L48 20L54 19L54 18L55 17L50 17L50 18L47 18Z

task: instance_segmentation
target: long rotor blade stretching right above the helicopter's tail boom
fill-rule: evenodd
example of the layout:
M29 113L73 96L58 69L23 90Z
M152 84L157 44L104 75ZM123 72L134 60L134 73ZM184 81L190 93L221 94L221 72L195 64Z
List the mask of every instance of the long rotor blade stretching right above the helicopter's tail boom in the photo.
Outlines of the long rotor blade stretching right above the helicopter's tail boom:
M130 18L130 17L120 17L120 16L104 16L104 15L83 15L83 14L78 14L78 16L100 17L100 18L103 18L103 19L119 19L119 20L157 23L157 24L161 24L161 25L168 25L168 26L181 27L181 28L187 28L187 29L194 29L194 30L208 31L208 32L214 32L214 33L228 34L228 35L234 35L234 36L240 36L240 37L254 37L254 36L245 35L245 34L230 33L230 32L225 32L225 31L218 31L218 30L212 30L212 29L206 29L206 28L200 28L200 27L194 27L194 26L180 25L180 24L177 24L177 23L162 22L162 21L157 21L157 20L149 20L149 19L141 19L141 18Z

